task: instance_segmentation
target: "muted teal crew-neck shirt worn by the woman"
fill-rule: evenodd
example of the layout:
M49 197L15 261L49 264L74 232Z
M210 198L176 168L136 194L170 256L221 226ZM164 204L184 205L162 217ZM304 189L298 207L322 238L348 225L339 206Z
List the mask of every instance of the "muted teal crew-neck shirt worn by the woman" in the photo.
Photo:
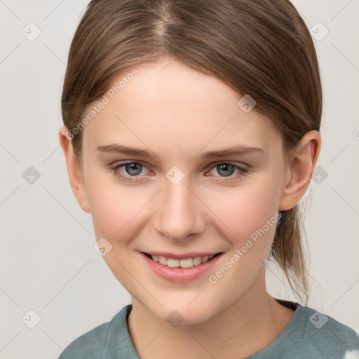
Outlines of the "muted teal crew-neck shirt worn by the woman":
M356 359L359 337L350 327L308 306L276 299L295 309L280 336L247 359ZM128 304L112 320L82 334L58 359L140 359L128 332Z

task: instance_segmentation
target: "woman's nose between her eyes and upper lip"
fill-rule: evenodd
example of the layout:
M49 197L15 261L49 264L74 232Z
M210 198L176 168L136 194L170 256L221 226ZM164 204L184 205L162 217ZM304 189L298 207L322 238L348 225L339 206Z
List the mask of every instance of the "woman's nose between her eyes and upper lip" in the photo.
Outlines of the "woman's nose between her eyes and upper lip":
M159 233L172 241L183 241L189 236L193 240L196 234L205 229L205 205L195 192L186 176L177 184L164 179L154 217L154 225Z

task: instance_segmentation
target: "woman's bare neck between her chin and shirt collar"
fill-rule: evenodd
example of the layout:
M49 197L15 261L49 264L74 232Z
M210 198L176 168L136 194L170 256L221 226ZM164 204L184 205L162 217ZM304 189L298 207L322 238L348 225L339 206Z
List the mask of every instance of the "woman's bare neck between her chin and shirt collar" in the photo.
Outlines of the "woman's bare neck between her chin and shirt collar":
M236 302L196 325L171 327L133 298L130 337L142 359L238 359L261 351L285 329L294 311L278 304L262 283Z

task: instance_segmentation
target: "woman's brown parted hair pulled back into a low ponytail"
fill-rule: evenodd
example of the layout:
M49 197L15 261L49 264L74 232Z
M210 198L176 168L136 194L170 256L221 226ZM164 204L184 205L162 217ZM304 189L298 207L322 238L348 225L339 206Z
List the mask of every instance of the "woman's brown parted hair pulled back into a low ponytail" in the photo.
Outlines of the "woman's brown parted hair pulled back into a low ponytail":
M215 76L271 118L285 154L320 129L322 87L309 29L289 0L93 0L69 50L62 117L72 131L114 78L174 57ZM239 99L239 97L238 97ZM82 132L72 135L80 165ZM306 304L309 280L298 205L282 212L271 256Z

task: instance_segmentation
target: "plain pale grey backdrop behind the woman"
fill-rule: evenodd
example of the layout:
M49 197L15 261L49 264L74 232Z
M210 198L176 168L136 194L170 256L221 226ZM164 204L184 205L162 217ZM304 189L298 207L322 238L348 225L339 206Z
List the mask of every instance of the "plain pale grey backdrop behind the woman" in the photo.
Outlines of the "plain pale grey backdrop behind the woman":
M358 332L359 1L293 2L313 27L325 100L323 149L305 196L309 306ZM0 1L0 359L57 358L130 303L93 249L57 137L67 53L87 4ZM275 266L267 274L271 294L293 299Z

